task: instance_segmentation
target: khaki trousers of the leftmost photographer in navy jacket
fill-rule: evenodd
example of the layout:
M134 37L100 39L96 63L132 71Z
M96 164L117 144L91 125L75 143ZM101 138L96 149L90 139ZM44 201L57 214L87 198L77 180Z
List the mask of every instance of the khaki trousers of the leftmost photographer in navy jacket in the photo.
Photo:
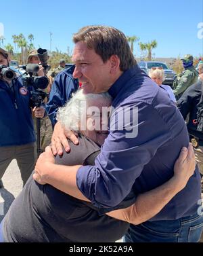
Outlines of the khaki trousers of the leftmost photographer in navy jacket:
M37 160L35 143L20 146L0 147L0 179L3 177L7 166L9 166L10 162L14 159L17 160L23 185L25 185L32 173L32 170L35 168L35 162Z

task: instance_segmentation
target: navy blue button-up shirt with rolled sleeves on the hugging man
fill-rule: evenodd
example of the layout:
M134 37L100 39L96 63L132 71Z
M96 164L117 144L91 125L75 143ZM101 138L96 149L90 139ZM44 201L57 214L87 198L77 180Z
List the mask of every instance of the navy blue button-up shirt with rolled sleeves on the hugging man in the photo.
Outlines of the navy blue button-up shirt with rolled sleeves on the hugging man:
M116 206L132 187L135 194L141 194L168 181L181 148L189 143L175 103L137 65L125 71L109 93L114 107L110 134L95 166L83 166L76 175L78 188L99 208ZM122 122L125 108L135 111L128 111L128 121ZM192 215L200 206L200 198L200 173L196 169L187 186L152 219Z

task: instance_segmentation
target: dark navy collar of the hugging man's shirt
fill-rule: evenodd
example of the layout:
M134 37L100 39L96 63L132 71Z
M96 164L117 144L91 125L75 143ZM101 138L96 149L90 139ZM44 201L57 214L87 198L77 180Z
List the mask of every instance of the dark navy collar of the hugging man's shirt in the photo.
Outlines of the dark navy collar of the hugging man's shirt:
M138 65L135 65L131 69L127 69L127 71L124 71L108 90L110 96L112 96L112 98L116 98L116 95L120 92L120 90L127 86L127 81L129 81L131 77L137 76L140 73L141 69L139 69Z

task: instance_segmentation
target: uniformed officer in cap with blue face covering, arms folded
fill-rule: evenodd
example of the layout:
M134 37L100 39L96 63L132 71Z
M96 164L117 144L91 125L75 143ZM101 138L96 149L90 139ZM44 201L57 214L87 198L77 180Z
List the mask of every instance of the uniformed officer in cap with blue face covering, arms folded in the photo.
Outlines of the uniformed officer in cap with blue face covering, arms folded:
M173 83L173 93L175 97L179 99L183 92L191 86L192 84L198 81L198 71L193 66L193 56L190 54L186 54L183 58L184 71L180 75L178 75L177 79L175 79Z

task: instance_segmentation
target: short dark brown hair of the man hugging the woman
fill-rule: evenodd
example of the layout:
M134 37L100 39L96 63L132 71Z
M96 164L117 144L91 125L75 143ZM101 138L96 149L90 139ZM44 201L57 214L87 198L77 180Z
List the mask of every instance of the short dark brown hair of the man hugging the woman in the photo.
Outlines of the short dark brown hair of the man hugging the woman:
M117 55L120 59L120 70L126 71L137 62L131 52L124 33L110 26L84 26L73 35L74 43L84 41L87 48L95 50L106 62L110 56Z

